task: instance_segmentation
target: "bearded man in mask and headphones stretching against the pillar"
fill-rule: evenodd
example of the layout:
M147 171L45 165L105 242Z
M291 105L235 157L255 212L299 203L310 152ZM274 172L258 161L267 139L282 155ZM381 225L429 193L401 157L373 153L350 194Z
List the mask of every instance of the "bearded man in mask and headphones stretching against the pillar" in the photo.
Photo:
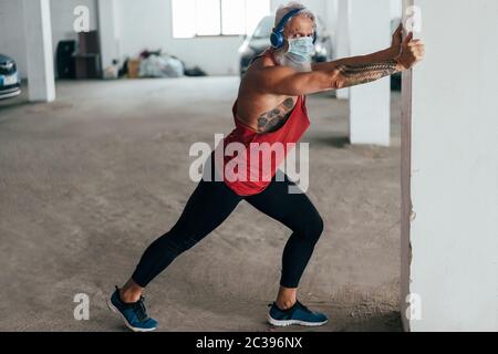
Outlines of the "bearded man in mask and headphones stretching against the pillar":
M394 33L388 49L326 63L312 63L314 41L315 21L309 10L299 3L279 8L272 45L252 61L240 84L232 110L236 128L219 145L221 148L238 143L250 154L252 143L297 143L310 125L305 95L378 80L411 69L424 55L424 44L413 40L412 33L403 40L402 27ZM177 223L147 248L131 279L123 288L116 287L108 305L131 330L154 331L157 322L147 315L142 296L144 288L246 200L293 232L283 250L280 289L268 321L277 326L325 324L324 314L309 310L297 296L301 277L323 231L319 212L304 194L289 192L289 187L297 186L287 176L283 181L277 180L281 159L270 167L271 178L243 179L224 174L224 167L241 156L221 156L221 164L214 164L211 158L212 169L205 173ZM242 169L252 176L268 167L268 163L259 160L255 166L251 159L247 167L238 164L238 173ZM222 178L206 178L214 175Z

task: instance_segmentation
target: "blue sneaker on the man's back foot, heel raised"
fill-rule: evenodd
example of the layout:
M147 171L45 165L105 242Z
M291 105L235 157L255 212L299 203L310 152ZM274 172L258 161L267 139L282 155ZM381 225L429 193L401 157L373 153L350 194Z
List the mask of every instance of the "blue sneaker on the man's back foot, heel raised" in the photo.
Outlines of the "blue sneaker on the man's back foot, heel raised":
M138 302L127 304L121 301L120 289L107 300L111 310L117 313L125 322L126 326L133 332L152 332L157 327L157 321L148 317L144 304L145 299L141 298Z

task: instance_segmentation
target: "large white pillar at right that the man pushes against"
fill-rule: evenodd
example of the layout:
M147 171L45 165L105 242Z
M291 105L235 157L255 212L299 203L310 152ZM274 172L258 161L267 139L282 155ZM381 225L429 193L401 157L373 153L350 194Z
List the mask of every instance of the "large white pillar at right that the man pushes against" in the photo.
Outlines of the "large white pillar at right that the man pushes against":
M498 1L412 4L426 58L404 76L403 320L498 331Z

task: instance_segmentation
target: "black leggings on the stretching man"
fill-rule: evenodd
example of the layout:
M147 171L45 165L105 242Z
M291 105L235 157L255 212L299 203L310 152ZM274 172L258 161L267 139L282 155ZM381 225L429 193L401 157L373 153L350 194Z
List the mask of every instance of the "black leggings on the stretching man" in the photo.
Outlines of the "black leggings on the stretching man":
M295 185L287 176L284 181L273 178L261 194L240 197L222 181L201 180L173 229L147 248L132 279L147 287L179 254L220 226L245 199L293 231L283 250L280 285L298 288L322 235L323 221L310 199L304 194L289 194L289 186Z

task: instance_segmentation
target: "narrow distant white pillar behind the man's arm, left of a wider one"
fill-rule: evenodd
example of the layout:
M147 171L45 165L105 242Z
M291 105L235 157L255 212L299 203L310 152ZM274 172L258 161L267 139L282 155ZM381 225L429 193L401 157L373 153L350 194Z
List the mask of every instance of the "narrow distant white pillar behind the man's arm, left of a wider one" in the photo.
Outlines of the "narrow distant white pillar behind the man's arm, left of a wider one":
M351 56L350 49L350 1L338 0L336 4L336 22L334 35L334 59ZM350 88L335 91L339 100L347 100L350 97Z

